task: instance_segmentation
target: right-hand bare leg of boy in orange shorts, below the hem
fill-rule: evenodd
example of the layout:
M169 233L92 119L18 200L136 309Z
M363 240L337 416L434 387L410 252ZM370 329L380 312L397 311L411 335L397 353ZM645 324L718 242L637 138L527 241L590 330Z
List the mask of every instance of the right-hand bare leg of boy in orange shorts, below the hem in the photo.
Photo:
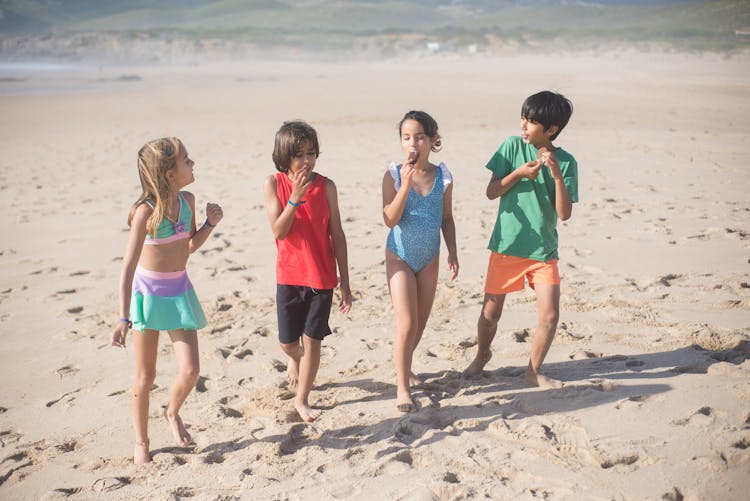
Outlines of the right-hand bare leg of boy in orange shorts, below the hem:
M526 368L526 381L535 386L559 388L559 381L540 374L542 362L547 356L560 317L560 285L536 285L536 304L539 316L534 337L531 339L531 356Z

